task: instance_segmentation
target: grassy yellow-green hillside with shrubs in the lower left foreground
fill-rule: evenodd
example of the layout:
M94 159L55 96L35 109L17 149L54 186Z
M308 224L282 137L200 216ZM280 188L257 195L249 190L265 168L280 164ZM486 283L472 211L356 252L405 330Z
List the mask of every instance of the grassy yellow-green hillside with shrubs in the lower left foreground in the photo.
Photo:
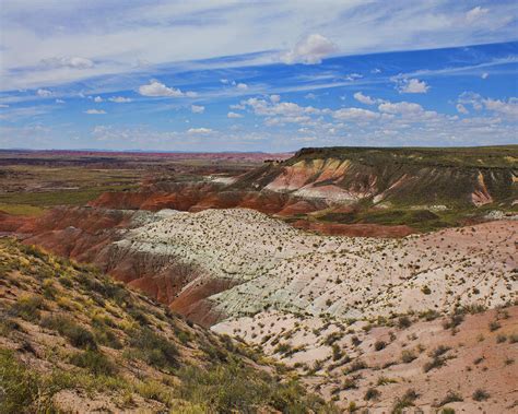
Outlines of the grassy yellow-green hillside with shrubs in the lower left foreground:
M0 240L0 411L333 412L260 354L98 272Z

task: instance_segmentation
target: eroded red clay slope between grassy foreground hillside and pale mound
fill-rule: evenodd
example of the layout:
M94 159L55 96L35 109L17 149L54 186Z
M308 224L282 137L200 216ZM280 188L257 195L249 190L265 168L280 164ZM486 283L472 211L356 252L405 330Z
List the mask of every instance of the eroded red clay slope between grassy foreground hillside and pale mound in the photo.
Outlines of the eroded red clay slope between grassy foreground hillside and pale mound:
M0 232L16 234L25 245L95 264L190 320L210 326L220 320L207 298L233 286L213 280L177 258L117 248L120 230L131 226L133 212L95 208L59 208L42 217L0 215ZM185 292L184 287L188 286Z

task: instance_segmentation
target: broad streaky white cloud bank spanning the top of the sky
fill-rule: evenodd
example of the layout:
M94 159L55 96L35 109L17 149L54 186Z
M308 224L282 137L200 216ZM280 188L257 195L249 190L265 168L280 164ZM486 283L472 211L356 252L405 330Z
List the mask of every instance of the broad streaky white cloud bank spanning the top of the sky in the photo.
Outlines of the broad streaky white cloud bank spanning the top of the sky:
M195 61L195 68L225 69L271 63L279 59L276 50L290 48L296 43L294 36L304 33L323 34L349 56L516 39L513 1L493 1L491 12L476 24L467 24L469 8L445 5L444 0L413 1L404 8L390 1L365 7L364 0L256 1L246 8L228 0L145 5L141 1L115 2L110 10L117 24L98 19L106 13L105 2L99 0L83 1L82 7L75 0L1 3L4 90L36 90L125 74L134 71L136 61L149 62L149 68ZM476 19L485 10L479 7L468 13ZM179 21L193 24L175 24ZM164 39L175 42L164 47ZM58 58L48 59L49 54ZM240 58L214 59L224 56ZM294 54L290 56L294 58ZM42 68L45 60L61 67ZM125 76L118 79L122 82Z

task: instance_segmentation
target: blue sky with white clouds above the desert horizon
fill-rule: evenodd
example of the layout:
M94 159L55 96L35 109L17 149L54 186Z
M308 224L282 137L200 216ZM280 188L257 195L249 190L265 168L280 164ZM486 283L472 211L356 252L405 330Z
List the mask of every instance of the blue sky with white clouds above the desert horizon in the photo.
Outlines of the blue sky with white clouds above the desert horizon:
M515 0L1 0L0 147L518 144Z

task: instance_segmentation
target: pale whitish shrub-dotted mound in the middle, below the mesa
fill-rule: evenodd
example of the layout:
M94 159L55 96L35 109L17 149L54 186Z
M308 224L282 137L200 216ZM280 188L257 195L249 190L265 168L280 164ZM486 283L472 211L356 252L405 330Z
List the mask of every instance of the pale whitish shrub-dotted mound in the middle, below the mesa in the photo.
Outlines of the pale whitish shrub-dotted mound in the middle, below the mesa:
M517 230L493 222L397 240L326 237L233 209L172 212L116 246L233 281L210 297L227 317L271 307L346 319L513 303Z

